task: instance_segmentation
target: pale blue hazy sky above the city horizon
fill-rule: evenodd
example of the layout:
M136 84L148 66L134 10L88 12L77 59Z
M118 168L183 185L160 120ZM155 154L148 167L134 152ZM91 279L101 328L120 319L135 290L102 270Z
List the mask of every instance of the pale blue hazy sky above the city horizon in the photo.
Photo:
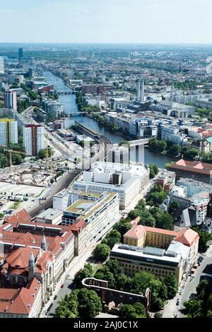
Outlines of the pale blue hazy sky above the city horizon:
M0 42L212 44L212 0L0 0Z

